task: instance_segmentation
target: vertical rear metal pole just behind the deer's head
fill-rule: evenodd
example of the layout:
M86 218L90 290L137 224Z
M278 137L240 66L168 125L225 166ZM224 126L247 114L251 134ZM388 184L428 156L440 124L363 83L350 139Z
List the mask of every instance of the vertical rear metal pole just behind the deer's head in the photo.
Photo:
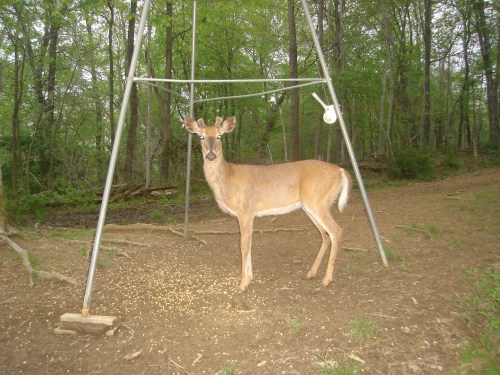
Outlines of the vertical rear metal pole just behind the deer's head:
M194 116L194 73L196 63L196 1L193 1L193 30L191 35L191 77L189 83L189 117ZM191 184L191 154L193 150L193 135L188 133L188 155L186 165L186 194L184 198L184 237L188 237L189 224L189 190Z

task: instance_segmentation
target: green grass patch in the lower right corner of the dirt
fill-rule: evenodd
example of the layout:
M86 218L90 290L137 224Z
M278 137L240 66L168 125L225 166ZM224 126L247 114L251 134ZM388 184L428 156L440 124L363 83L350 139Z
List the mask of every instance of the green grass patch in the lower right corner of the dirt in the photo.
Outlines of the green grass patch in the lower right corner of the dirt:
M471 294L459 302L463 307L461 317L471 330L471 340L460 350L459 358L473 363L477 374L500 374L500 267L481 274L468 269L466 274L475 284Z

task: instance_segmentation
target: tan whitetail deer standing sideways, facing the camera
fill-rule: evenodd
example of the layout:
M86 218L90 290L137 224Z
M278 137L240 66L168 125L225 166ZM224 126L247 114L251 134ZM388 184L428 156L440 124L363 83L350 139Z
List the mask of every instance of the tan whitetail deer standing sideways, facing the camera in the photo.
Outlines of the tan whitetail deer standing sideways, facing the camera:
M351 176L330 163L303 160L273 165L235 165L222 154L222 135L234 130L235 117L224 122L217 117L214 126L203 119L186 118L185 128L198 134L203 152L203 170L220 209L236 216L240 225L241 284L244 291L253 279L252 233L255 217L280 215L302 208L318 228L323 239L316 259L307 273L314 277L331 242L330 258L323 285L332 281L333 265L342 229L333 220L330 207L338 198L342 211L349 198Z

